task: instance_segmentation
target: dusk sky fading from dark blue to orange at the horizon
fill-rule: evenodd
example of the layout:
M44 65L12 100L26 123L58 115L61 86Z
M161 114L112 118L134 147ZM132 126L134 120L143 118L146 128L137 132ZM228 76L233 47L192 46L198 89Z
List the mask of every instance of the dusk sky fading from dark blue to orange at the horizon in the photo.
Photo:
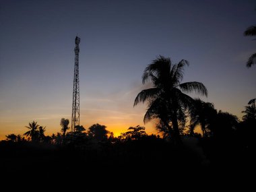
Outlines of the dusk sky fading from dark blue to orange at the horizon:
M80 125L106 125L115 135L143 124L147 88L141 75L158 55L189 61L183 82L202 82L206 102L243 117L256 97L256 2L0 0L0 139L37 121L46 135L71 121L75 36L79 52ZM192 95L193 97L198 97Z

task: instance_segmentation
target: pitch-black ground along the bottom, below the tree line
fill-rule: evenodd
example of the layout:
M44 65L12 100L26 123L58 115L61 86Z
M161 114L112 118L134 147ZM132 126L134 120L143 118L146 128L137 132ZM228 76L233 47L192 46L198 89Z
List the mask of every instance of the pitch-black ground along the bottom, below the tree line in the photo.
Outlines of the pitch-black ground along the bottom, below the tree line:
M178 183L181 189L201 185L217 189L252 184L255 152L211 139L201 139L199 146L203 156L193 148L161 139L88 143L82 148L2 141L1 181L60 187L95 183L94 189L108 185L171 188Z

